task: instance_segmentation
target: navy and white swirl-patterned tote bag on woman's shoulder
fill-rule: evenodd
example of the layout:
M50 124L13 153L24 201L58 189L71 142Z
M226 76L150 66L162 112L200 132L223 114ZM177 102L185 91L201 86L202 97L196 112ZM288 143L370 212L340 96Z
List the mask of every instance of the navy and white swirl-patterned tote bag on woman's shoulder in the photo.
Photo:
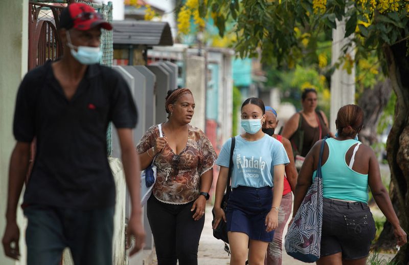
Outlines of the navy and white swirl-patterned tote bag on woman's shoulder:
M285 236L285 251L291 257L303 262L315 262L320 258L321 228L323 224L323 184L321 162L325 141L324 138L316 176L308 188L304 201Z

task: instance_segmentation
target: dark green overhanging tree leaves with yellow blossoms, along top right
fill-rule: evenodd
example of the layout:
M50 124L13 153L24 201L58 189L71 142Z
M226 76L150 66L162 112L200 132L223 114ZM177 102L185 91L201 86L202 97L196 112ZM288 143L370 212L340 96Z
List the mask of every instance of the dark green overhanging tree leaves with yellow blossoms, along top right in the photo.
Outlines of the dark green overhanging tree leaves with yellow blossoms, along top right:
M398 2L396 10L392 4L384 9L358 0L327 0L322 9L317 9L311 0L242 0L240 4L238 0L208 0L207 4L215 14L220 36L229 17L236 21L235 49L241 58L257 56L261 49L263 62L291 68L300 58L316 61L320 34L334 29L335 19L343 17L347 20L345 35L351 40L344 52L354 43L356 61L367 58L369 51L376 51L380 65L384 66L382 46L409 36L406 3Z

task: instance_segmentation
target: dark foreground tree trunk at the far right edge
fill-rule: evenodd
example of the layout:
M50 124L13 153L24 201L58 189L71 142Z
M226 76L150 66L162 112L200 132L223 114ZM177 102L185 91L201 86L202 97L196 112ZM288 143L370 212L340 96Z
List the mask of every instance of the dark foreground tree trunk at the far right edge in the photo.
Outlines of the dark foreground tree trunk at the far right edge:
M399 220L403 230L409 232L409 58L406 41L393 46L384 46L383 54L387 60L392 89L397 96L394 123L387 141L388 163L391 180L394 184L399 209ZM406 244L393 261L409 263L409 249Z

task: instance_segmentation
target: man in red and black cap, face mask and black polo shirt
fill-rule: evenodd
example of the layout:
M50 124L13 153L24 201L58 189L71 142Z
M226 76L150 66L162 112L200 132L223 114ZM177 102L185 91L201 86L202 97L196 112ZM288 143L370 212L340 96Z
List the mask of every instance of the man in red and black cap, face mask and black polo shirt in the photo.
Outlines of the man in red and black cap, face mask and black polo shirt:
M132 204L130 254L143 247L140 167L132 140L137 109L123 78L99 64L101 28L112 26L93 8L69 5L60 16L62 58L27 73L18 90L3 246L7 256L19 258L16 208L35 137L36 159L21 205L28 218L29 265L57 265L66 247L76 265L112 264L116 191L106 157L110 121L118 131Z

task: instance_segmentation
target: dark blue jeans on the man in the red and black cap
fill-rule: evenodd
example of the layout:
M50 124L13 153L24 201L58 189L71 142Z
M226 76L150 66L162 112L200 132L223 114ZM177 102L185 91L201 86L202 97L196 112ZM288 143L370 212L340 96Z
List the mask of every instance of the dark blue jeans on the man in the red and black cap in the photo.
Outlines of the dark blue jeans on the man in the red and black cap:
M58 265L69 247L75 265L111 265L114 211L28 206L27 264Z

